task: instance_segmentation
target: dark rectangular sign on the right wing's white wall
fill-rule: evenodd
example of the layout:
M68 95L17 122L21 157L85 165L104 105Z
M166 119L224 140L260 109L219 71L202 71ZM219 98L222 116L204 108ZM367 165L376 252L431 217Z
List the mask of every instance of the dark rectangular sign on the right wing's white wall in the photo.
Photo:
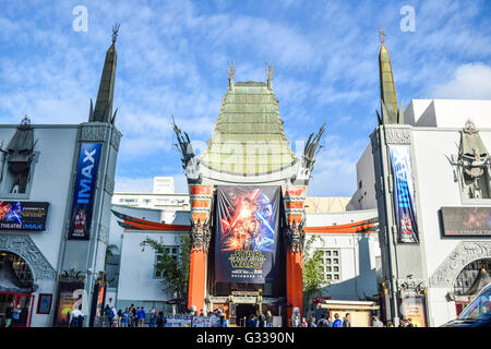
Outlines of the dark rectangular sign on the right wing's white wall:
M442 207L443 236L491 237L491 207Z

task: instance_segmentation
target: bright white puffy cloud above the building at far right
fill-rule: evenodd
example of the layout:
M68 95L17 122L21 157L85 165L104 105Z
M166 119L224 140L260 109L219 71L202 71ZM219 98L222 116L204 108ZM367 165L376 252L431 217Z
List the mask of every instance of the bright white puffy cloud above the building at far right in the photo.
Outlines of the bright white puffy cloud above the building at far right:
M452 80L434 86L429 96L446 99L491 99L491 67L482 63L459 65Z

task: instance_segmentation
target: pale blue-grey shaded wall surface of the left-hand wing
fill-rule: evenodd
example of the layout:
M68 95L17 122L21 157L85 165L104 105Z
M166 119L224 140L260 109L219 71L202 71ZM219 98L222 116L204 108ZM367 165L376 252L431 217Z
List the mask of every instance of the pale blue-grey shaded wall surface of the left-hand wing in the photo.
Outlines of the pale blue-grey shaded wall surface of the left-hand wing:
M75 156L75 145L77 135L77 125L33 125L34 140L37 140L34 148L38 153L34 171L31 172L31 180L27 196L19 194L17 198L12 194L0 194L0 200L7 201L33 201L49 202L48 215L46 219L45 231L17 231L2 230L4 234L28 236L46 257L51 267L57 270L61 261L60 246L64 234L67 233L64 219L67 203L70 201L71 176L73 167L73 157ZM0 128L0 141L3 140L3 146L15 133L16 125ZM7 163L4 173L7 172ZM31 265L31 268L33 266ZM34 272L34 270L33 270ZM60 273L61 270L57 270ZM57 280L37 279L34 272L35 282L38 289L32 293L34 296L34 306L32 310L33 327L49 327L52 322L52 314L56 308L56 287ZM36 314L39 293L52 293L52 304L50 314Z

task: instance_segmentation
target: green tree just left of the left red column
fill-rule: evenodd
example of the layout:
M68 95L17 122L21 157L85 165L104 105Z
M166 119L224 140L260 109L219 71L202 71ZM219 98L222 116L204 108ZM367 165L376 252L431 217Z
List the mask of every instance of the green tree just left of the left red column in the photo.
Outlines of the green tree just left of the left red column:
M156 241L146 237L140 245L145 251L145 248L151 248L157 255L157 263L155 269L161 272L164 279L164 291L171 293L177 299L188 298L189 284L189 266L191 261L191 239L189 234L181 234L179 237L180 245L178 248L177 258L167 252L166 246L161 241Z

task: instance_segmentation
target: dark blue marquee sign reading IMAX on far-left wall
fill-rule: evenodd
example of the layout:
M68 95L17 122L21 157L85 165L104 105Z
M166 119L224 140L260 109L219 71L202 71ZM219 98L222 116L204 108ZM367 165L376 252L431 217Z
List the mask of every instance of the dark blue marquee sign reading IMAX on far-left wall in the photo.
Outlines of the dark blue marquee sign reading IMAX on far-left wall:
M0 230L46 230L49 203L0 201Z

